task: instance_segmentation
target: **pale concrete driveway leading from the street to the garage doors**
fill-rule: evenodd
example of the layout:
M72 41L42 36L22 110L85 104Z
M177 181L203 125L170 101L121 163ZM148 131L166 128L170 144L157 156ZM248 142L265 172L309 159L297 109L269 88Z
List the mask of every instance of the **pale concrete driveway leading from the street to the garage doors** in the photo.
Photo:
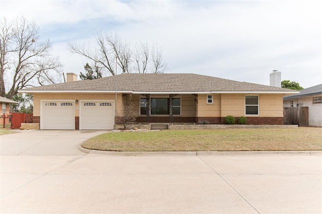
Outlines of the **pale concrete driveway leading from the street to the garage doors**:
M105 133L97 130L23 130L0 135L1 155L86 155L79 143Z

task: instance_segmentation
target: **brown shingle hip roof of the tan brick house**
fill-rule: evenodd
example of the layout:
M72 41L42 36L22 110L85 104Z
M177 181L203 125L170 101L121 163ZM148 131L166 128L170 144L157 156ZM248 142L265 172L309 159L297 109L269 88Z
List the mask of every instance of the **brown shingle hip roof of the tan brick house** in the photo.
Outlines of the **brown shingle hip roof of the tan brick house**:
M118 91L133 92L294 91L198 74L120 74L96 80L33 87L23 91L115 91L116 82Z

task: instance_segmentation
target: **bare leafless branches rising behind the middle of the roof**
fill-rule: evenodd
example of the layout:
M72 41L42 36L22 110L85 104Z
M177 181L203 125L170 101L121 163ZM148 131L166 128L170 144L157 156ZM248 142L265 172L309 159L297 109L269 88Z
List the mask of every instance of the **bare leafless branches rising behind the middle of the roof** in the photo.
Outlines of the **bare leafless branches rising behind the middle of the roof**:
M95 43L82 45L69 42L67 46L71 53L100 64L105 75L115 75L116 64L122 73L163 73L168 68L163 60L163 50L156 45L153 46L152 53L146 43L136 45L133 51L131 44L122 40L117 32L101 32L95 37Z

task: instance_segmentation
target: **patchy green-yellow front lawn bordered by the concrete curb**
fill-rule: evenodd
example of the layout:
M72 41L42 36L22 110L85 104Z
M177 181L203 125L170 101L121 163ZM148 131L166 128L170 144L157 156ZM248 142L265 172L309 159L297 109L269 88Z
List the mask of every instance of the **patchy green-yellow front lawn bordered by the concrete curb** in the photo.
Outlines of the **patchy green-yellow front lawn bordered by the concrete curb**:
M91 138L82 146L104 151L322 150L322 128L112 132Z

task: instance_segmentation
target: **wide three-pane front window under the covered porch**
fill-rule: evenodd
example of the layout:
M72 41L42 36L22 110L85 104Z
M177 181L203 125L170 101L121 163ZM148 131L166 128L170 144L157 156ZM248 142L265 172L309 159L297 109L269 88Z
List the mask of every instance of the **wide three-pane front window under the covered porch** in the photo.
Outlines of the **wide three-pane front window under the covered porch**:
M151 115L169 115L169 98L151 98ZM172 102L172 114L181 114L180 98L174 98ZM140 115L146 115L146 99L140 99Z

